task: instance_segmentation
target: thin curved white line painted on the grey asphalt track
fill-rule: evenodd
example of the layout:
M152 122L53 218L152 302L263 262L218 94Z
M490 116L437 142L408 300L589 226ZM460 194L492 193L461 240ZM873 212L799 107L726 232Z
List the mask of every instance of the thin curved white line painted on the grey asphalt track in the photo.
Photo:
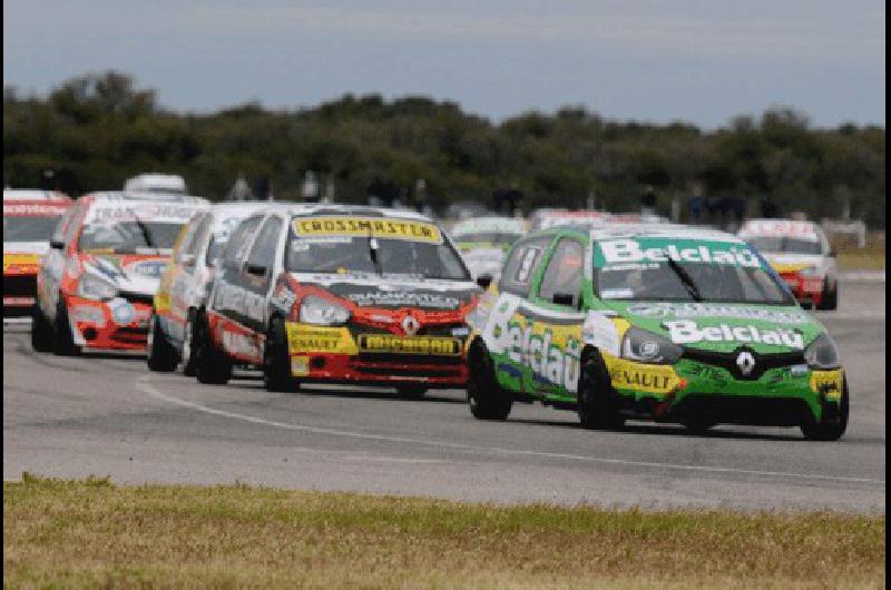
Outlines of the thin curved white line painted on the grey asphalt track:
M735 473L740 475L760 475L766 478L787 478L787 479L796 479L796 480L817 480L817 481L828 481L828 482L844 482L844 483L870 483L870 484L878 484L884 485L884 480L873 480L870 478L844 478L844 476L835 476L835 475L814 475L809 473L794 473L794 472L784 472L784 471L761 471L761 470L748 470L748 469L736 469L736 468L718 468L718 466L708 466L708 465L684 465L679 463L659 463L659 462L650 462L650 461L630 461L626 459L608 459L608 458L599 458L599 456L588 456L588 455L576 455L576 454L568 454L568 453L549 453L546 451L528 451L522 449L502 449L498 446L476 446L472 444L463 444L463 443L451 443L451 442L443 442L443 441L428 441L423 439L409 439L404 436L385 436L382 434L368 434L363 432L354 432L349 430L335 430L335 429L321 429L317 426L307 426L304 424L292 424L288 422L276 422L274 420L266 420L263 417L249 416L246 414L238 414L235 412L227 412L226 410L217 410L215 407L208 407L206 405L202 405L195 402L188 402L186 400L180 400L178 397L174 397L173 395L168 395L164 392L158 391L155 389L151 383L149 383L150 377L148 375L143 375L136 380L136 386L141 390L144 393L155 397L157 400L161 400L165 402L169 402L173 404L182 405L184 407L190 407L193 410L197 410L199 412L204 412L206 414L213 414L217 416L225 416L231 417L234 420L242 420L244 422L251 422L253 424L263 424L265 426L273 426L276 429L285 429L292 431L301 431L301 432L312 432L315 434L326 434L331 436L342 436L349 439L363 439L363 440L373 440L373 441L382 441L382 442L393 442L393 443L410 443L412 445L424 445L424 446L434 446L440 449L454 449L460 451L477 451L477 452L484 452L484 453L495 453L495 454L505 454L505 455L520 455L520 456L542 456L548 459L564 459L564 460L572 460L572 461L584 461L588 463L604 463L604 464L611 464L611 465L630 465L630 466L643 466L643 468L656 468L656 469L670 469L670 470L678 470L678 471L699 471L705 473Z

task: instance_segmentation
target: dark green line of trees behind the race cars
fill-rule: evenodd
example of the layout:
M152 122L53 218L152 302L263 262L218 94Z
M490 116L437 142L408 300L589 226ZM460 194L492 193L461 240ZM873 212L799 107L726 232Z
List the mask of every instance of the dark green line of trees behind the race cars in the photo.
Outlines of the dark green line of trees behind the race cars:
M4 88L3 183L51 184L77 196L164 171L213 200L238 177L300 199L312 170L336 201L373 193L442 210L516 190L526 212L590 203L627 212L655 194L659 213L674 200L682 220L697 207L742 203L750 215L801 210L817 219L846 207L883 228L884 136L878 126L814 128L787 107L708 131L610 120L581 107L493 122L451 101L379 95L293 110L248 102L183 114L130 76L108 71L68 80L46 97Z

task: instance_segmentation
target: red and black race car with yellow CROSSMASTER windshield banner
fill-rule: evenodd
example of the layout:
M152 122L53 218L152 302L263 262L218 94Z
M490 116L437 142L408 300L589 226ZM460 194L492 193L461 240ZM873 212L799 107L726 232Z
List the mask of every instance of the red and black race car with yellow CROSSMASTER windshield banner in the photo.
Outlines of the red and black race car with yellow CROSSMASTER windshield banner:
M233 365L266 387L389 385L417 397L467 382L480 289L453 244L411 212L276 206L233 232L196 326L202 383Z

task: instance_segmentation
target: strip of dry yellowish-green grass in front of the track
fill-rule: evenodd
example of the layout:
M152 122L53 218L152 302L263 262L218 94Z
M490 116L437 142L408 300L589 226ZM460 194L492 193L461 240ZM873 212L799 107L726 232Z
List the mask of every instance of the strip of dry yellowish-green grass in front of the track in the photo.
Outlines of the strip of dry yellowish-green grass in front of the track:
M829 491L828 491L829 493ZM3 484L6 588L879 588L884 515Z

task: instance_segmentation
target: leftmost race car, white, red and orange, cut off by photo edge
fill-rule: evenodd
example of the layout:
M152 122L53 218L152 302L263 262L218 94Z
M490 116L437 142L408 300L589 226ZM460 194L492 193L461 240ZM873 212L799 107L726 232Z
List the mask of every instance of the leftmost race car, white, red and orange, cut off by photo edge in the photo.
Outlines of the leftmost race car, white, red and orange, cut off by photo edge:
M50 190L3 190L3 321L28 321L40 257L71 199Z

